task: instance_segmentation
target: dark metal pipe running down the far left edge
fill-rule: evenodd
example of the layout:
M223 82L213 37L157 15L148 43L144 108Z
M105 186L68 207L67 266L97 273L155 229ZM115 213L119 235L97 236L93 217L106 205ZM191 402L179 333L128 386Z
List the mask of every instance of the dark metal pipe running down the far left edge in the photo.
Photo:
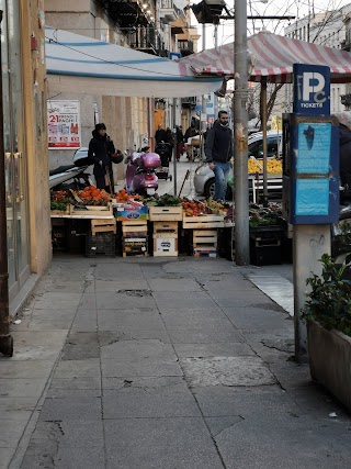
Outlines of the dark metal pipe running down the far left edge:
M0 35L3 11L0 10ZM2 64L0 47L0 64ZM13 338L10 335L9 268L7 233L7 193L3 143L2 74L0 74L0 353L12 357Z

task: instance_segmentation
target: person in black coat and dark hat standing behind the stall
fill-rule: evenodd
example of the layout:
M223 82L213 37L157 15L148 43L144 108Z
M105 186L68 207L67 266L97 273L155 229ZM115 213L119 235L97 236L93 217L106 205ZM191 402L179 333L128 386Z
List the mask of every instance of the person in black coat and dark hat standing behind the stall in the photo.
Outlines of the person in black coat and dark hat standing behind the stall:
M105 124L97 124L92 131L92 138L89 143L88 157L94 163L93 174L97 180L98 189L105 189L107 192L114 190L113 170L111 156L115 148L112 139L106 134ZM110 177L110 183L107 177Z

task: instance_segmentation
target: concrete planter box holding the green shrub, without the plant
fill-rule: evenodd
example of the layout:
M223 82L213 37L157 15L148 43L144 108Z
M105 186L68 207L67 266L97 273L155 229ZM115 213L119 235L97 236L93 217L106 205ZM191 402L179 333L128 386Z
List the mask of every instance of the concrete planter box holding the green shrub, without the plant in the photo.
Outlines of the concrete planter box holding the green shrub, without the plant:
M313 322L308 353L312 377L351 411L351 337Z

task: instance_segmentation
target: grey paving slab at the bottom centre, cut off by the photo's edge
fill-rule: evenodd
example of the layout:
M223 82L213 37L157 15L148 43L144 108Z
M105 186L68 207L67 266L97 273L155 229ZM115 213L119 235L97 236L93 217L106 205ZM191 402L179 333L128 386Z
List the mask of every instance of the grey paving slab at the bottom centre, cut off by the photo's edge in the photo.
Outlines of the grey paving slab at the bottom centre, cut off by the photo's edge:
M223 469L202 418L104 421L109 469Z

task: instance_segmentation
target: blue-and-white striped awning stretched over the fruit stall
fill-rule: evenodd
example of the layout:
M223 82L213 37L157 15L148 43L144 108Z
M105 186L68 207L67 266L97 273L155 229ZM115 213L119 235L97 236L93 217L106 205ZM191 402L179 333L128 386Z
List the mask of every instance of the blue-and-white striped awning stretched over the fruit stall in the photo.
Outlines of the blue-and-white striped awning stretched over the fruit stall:
M180 98L216 91L222 77L189 65L63 30L45 29L46 70L55 92Z

